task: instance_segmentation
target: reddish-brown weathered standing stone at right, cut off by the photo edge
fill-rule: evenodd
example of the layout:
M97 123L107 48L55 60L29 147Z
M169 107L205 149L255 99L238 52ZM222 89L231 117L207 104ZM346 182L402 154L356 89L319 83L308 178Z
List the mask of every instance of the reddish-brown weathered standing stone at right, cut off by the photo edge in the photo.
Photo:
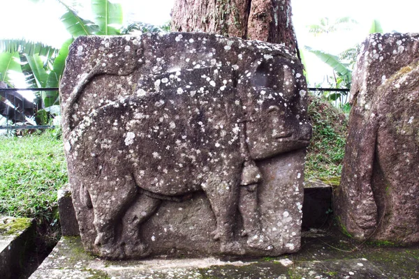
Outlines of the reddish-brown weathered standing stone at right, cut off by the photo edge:
M419 35L362 44L337 213L358 239L419 241Z

